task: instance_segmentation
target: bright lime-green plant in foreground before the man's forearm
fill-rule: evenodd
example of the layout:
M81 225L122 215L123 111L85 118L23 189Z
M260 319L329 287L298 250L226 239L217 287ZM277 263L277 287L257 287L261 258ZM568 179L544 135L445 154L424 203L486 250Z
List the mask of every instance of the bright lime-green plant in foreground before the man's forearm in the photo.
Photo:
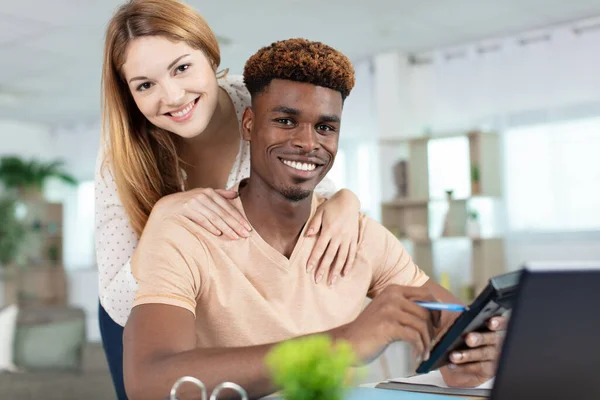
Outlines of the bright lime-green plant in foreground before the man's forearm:
M279 344L266 362L286 400L341 400L355 360L347 342L317 335Z

